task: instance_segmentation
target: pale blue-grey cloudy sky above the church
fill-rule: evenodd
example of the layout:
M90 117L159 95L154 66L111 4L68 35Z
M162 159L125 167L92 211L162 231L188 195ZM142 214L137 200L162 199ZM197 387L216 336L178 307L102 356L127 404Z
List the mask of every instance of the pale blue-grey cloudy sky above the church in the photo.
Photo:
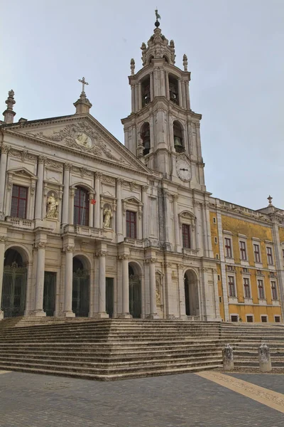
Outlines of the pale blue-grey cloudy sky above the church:
M0 105L15 121L70 115L83 76L90 111L119 141L131 112L130 60L160 28L187 54L192 110L202 114L207 191L284 209L284 0L13 0L0 15Z

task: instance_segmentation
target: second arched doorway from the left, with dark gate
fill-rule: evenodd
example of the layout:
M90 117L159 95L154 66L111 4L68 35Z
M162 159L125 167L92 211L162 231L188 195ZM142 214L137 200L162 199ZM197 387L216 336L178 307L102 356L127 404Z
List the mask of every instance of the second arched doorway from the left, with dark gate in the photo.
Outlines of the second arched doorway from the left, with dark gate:
M76 317L89 315L89 272L77 256L73 258L72 312Z

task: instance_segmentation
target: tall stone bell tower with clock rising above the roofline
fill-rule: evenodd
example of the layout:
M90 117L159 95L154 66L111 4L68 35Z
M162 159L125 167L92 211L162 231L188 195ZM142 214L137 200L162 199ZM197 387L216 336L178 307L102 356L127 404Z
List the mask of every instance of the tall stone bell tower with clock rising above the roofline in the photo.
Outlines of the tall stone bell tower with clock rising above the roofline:
M156 12L156 16L157 16ZM153 36L142 43L143 68L131 59L131 115L121 120L125 146L165 179L205 190L200 144L201 115L190 108L190 72L175 66L175 43L155 22Z

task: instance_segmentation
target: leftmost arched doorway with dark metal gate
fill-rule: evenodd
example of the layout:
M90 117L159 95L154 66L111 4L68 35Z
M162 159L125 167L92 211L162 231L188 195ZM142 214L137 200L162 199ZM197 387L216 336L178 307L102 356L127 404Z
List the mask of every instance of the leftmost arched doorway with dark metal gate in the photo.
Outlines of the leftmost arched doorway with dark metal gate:
M7 249L1 299L4 317L23 316L26 305L26 273L21 253L13 248Z

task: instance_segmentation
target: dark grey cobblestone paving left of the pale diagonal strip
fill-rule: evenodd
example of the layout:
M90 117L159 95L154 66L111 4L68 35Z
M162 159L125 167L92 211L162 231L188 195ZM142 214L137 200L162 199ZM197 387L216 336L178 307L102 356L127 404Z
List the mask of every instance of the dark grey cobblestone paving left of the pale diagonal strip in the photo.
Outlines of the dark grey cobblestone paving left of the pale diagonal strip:
M0 375L0 426L283 427L284 416L195 374L97 382L9 372Z

